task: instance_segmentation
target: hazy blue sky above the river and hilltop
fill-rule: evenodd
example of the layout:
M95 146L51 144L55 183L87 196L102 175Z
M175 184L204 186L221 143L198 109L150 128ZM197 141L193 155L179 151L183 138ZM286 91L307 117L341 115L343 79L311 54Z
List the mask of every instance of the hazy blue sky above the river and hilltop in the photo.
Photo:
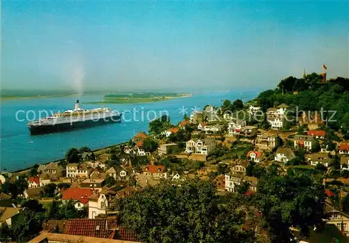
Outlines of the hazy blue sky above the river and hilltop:
M222 91L349 77L348 1L9 1L2 88Z

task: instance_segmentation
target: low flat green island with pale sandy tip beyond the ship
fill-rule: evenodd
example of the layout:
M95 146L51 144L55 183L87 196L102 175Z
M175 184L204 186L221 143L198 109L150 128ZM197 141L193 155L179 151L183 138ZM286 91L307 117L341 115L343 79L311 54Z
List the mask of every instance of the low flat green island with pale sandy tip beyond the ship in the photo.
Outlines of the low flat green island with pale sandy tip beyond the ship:
M138 103L153 103L161 102L165 100L172 100L183 97L191 97L191 94L182 94L177 96L165 96L165 97L108 97L101 101L96 102L84 102L84 104L138 104Z

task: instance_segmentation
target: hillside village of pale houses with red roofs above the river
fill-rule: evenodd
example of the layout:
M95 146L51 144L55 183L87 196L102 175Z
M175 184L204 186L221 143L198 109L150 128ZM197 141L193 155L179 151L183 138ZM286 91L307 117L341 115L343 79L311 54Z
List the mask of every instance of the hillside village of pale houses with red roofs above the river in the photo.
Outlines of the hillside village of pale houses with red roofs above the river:
M52 237L59 242L60 235L71 235L72 240L73 235L80 235L142 242L144 236L120 221L118 201L149 187L208 183L221 198L241 194L251 203L269 175L287 178L302 174L318 182L322 190L322 221L338 233L329 237L346 239L348 136L343 125L329 124L320 113L321 107L298 111L288 100L297 99L302 92L316 92L323 85L332 89L339 86L338 80L318 84L313 77L299 79L302 85L312 84L313 91L295 89L298 79L284 79L282 88L279 85L246 103L225 100L221 107L208 104L201 111L185 114L178 124L172 124L168 116L153 120L149 131L138 132L127 143L96 151L72 148L59 162L2 173L0 236L17 232L7 237L8 241L29 236L27 241ZM287 90L285 84L290 82L292 88ZM255 205L248 208L250 213L264 212ZM27 222L23 219L33 212L42 213L42 217L25 231ZM258 217L252 219L250 224L251 214L246 213L243 227L252 229L259 240L266 239L270 232L262 228ZM35 239L31 242L40 242Z

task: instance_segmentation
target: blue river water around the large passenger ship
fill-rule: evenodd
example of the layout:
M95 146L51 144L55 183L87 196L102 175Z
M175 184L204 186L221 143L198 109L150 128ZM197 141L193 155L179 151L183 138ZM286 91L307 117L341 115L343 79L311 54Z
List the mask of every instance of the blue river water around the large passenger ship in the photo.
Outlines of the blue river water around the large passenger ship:
M45 97L35 99L5 100L1 104L0 127L0 170L13 171L61 159L69 148L89 146L91 149L112 146L128 141L138 131L147 132L149 120L168 111L172 123L188 116L195 107L202 109L206 104L221 106L223 100L247 101L257 96L257 91L202 93L192 97L181 97L162 102L143 104L105 104L117 111L128 111L121 123L89 127L84 130L31 136L27 128L27 118L38 117L40 111L57 112L73 109L75 100L80 99L80 107L93 109L98 104L84 102L102 100L102 95L82 95L82 97ZM17 117L16 117L17 114ZM26 118L27 114L27 118ZM126 121L128 120L128 121Z

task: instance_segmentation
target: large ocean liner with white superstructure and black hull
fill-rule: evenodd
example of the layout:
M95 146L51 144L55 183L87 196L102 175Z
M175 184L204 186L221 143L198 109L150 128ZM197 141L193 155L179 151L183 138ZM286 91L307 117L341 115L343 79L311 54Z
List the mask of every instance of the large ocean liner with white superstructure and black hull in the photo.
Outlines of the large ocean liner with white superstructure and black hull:
M40 120L28 123L31 135L65 132L86 127L96 127L109 123L120 123L122 113L112 111L109 107L81 109L79 100L75 109L54 113Z

